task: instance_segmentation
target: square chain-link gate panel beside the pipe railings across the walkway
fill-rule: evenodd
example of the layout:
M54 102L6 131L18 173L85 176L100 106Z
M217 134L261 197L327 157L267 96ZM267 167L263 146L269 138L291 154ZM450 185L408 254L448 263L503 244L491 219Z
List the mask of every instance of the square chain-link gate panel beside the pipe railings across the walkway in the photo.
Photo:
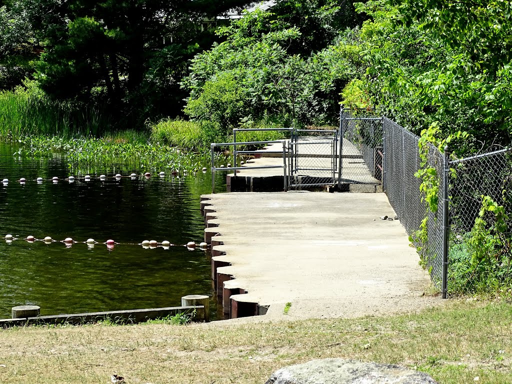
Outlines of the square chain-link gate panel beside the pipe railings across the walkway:
M333 185L337 148L337 130L295 130L288 142L288 187Z

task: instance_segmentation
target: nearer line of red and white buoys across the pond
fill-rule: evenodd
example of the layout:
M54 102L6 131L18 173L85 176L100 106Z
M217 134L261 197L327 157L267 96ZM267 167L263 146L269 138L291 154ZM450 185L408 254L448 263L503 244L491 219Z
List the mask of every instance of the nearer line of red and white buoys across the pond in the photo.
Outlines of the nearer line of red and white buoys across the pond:
M170 247L187 247L187 249L189 249L189 250L194 250L197 247L199 247L199 249L204 250L208 247L208 244L206 244L204 242L196 244L193 241L190 241L187 244L171 244L167 240L164 240L161 243L157 242L156 240L144 240L140 243L118 243L112 239L109 239L105 242L98 242L94 239L87 239L86 241L75 241L72 238L66 238L64 240L54 240L50 236L46 236L42 239L37 239L32 235L27 236L26 238L15 238L14 236L12 236L12 234L6 234L6 236L4 236L2 239L4 239L6 241L6 243L12 243L15 240L25 240L27 243L35 243L36 241L44 242L46 244L63 243L66 245L66 247L71 247L73 244L77 244L77 243L83 243L83 244L87 244L87 246L91 247L91 248L94 247L96 244L105 244L108 248L113 248L115 245L140 245L140 246L142 246L142 248L151 248L151 249L157 248L157 247L162 247L164 249L168 249Z

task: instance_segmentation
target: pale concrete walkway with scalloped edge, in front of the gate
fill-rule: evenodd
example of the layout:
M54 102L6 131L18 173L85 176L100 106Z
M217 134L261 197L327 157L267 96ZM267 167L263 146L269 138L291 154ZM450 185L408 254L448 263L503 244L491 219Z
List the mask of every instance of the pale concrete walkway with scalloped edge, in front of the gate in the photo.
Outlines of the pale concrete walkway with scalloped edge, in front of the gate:
M385 194L204 195L212 278L231 318L411 311L430 278ZM291 303L285 314L285 306Z

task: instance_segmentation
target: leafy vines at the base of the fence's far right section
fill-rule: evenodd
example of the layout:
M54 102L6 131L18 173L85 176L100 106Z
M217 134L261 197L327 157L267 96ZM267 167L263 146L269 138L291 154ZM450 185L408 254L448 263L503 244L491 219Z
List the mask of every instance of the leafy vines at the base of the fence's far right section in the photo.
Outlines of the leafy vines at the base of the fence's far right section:
M449 291L454 294L512 293L511 260L504 248L508 216L502 205L482 196L482 207L471 232L450 246Z

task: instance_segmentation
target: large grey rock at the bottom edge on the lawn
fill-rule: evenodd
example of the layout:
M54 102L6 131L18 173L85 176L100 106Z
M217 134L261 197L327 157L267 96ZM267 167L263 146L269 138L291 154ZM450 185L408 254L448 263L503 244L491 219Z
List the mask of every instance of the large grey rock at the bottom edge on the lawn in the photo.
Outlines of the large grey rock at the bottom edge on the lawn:
M437 384L423 372L350 359L312 360L275 371L265 384Z

